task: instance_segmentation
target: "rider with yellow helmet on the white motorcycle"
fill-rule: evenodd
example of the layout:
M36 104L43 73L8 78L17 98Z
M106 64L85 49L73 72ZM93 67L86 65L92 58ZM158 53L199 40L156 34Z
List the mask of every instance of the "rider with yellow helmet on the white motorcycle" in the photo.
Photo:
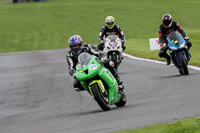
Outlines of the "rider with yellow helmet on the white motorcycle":
M103 50L104 48L104 37L107 37L109 35L118 35L119 38L122 40L122 49L123 51L126 49L124 43L125 43L125 34L123 33L121 27L117 24L115 24L115 18L113 16L107 16L105 19L105 24L100 29L100 33L98 36L98 40L100 44L97 46L98 49Z

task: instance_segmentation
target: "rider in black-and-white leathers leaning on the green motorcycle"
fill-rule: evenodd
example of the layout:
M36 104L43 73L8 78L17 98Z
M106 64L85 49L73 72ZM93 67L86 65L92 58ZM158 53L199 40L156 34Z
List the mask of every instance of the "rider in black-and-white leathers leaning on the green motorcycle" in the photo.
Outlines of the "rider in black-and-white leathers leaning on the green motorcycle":
M112 75L116 78L117 83L121 89L123 89L122 81L120 80L120 77L114 68L114 63L107 59L106 56L100 57L100 52L94 45L92 44L83 44L83 40L79 35L73 35L69 38L68 44L70 47L70 50L66 54L66 59L68 63L68 72L71 76L74 78L74 89L76 91L82 91L85 90L83 86L81 85L80 81L76 79L76 65L78 63L78 55L81 52L88 52L91 55L95 55L101 59L101 62L104 64L104 66L110 70Z

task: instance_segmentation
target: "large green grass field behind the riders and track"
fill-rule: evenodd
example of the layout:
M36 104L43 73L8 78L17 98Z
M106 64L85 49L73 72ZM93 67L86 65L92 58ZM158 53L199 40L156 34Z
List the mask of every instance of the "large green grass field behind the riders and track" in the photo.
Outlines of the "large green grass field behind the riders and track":
M161 17L170 13L193 43L190 64L200 66L199 0L55 0L0 4L0 53L67 47L73 34L98 44L105 17L113 15L126 34L125 52L163 60L150 51Z

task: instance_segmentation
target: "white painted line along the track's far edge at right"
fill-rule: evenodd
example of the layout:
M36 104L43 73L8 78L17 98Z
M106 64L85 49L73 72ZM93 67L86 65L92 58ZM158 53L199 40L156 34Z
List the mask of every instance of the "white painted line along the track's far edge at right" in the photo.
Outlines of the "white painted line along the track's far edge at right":
M140 58L140 57L135 57L135 56L129 55L127 53L123 53L123 55L126 56L126 57L129 57L131 59L135 59L135 60L149 61L149 62L154 62L154 63L158 63L158 64L166 64L166 62L152 60L152 59L145 59L145 58ZM191 69L200 71L200 67L192 66L192 65L188 65L188 67L191 68Z

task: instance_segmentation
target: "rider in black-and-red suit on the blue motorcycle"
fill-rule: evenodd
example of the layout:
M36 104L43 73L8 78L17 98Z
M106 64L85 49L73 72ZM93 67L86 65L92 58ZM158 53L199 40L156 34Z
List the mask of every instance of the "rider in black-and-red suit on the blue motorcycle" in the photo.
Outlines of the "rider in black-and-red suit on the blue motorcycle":
M168 41L167 41L167 35L172 32L176 31L183 36L183 38L186 41L186 45L188 47L188 50L190 47L192 47L192 43L189 41L189 37L185 33L185 31L182 29L181 25L172 20L172 16L170 14L164 14L162 16L162 24L158 28L158 34L159 34L159 42L161 44L161 49L159 51L159 57L163 57L167 59L167 65L170 64L170 56L167 54L167 49L168 49Z

